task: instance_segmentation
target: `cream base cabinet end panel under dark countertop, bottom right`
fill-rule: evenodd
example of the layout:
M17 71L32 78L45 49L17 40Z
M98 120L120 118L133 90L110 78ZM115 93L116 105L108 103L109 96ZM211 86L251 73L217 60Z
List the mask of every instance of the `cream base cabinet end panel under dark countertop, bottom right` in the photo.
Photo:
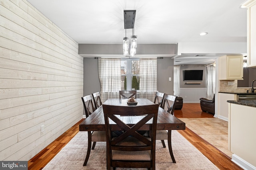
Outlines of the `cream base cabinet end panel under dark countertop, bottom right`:
M232 160L246 167L256 167L256 107L228 103L229 105L229 148Z

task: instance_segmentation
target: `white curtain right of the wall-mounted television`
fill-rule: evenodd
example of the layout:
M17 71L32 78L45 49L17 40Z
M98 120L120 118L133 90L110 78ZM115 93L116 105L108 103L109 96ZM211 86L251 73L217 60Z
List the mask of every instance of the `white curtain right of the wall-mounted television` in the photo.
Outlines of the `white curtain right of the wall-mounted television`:
M212 99L215 93L215 66L206 67L207 70L207 89L206 98Z

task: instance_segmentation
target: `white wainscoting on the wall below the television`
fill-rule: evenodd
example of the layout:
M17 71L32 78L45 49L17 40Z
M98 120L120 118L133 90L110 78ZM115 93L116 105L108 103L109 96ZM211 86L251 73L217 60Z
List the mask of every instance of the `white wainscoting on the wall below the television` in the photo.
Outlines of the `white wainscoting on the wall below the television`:
M180 88L183 103L200 103L200 98L206 97L206 88Z

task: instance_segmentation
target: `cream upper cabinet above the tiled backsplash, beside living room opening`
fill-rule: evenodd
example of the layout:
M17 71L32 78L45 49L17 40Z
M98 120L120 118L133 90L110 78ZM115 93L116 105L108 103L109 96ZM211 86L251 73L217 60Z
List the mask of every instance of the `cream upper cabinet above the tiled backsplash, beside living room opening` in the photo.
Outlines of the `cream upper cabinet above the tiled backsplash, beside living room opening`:
M243 55L224 55L219 63L219 80L243 80Z

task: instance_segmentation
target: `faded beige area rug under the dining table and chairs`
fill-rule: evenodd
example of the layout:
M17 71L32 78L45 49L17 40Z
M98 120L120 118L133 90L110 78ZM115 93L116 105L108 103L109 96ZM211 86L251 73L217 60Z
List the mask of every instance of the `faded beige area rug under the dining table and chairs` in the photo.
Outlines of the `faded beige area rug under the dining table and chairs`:
M165 141L167 146L167 141ZM172 149L176 164L172 163L168 147L163 148L156 141L157 170L218 170L199 150L189 143L180 133L172 131ZM104 170L106 169L106 143L97 142L91 150L86 166L83 166L87 151L87 132L78 132L76 136L43 168L43 170ZM116 168L116 170L133 168ZM141 168L141 170L144 168ZM134 169L135 170L135 169ZM140 169L136 169L140 170ZM145 169L144 169L145 170Z

